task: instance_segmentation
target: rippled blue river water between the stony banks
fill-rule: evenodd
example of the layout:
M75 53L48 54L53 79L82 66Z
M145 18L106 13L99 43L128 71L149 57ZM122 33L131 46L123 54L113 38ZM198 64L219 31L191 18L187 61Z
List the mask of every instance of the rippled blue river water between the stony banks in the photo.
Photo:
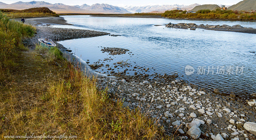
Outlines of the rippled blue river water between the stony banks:
M256 92L256 53L253 53L256 51L255 34L154 26L171 22L174 24L227 24L230 26L240 24L243 27L256 28L256 22L110 18L84 15L63 17L74 26L56 25L52 27L90 29L122 35L117 37L106 35L59 42L76 52L76 55L84 61L89 59L90 64L99 59L111 57L114 60L100 62L113 67L113 63L127 60L127 63L131 63L133 66L149 67L149 72L146 72L148 74L153 72L178 73L181 79L201 87L218 88L225 93L234 91L241 97L250 97L250 93ZM134 55L126 53L110 56L106 52L102 53L100 46L129 49ZM194 68L193 74L185 72L185 67L188 65ZM102 69L98 71L107 71L105 67ZM123 71L124 69L118 70ZM129 71L129 73L134 74L133 71Z

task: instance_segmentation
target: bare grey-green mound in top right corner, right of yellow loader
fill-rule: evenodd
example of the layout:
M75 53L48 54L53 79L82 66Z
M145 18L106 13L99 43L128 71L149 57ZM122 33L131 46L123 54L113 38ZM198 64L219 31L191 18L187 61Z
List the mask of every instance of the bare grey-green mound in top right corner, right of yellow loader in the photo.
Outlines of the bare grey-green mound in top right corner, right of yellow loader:
M256 0L244 0L228 7L228 10L251 11L256 10Z

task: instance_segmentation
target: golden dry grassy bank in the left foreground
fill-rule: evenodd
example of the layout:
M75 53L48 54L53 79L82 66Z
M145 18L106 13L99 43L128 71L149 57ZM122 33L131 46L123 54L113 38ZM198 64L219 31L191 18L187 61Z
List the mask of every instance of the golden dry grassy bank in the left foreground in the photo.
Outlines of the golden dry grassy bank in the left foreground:
M1 16L1 139L33 133L65 133L75 139L170 139L147 114L109 99L107 89L97 88L96 77L86 77L57 48L36 44L35 51L24 49L22 37L32 36L35 28Z

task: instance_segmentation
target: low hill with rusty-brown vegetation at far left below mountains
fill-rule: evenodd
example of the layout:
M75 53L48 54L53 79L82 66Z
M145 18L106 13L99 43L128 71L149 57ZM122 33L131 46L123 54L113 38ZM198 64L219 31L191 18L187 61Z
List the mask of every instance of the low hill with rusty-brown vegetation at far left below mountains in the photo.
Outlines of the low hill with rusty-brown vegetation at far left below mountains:
M0 9L1 12L4 12L8 17L11 18L28 18L28 17L44 17L44 16L59 16L55 12L52 12L47 7L36 7L29 8L25 10L14 10L14 9Z

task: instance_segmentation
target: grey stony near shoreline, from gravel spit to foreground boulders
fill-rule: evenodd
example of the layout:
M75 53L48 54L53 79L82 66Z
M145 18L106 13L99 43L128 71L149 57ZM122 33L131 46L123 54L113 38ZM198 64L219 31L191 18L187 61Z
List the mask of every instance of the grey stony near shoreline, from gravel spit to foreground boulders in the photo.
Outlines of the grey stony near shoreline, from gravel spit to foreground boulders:
M38 26L36 28L37 35L24 42L31 49L33 49L33 44L37 42L37 38L41 36L59 41L76 37L108 35L108 33L90 30ZM55 32L52 32L53 30ZM65 50L66 48L62 46L62 51L68 54L69 52ZM119 51L122 54L123 50L119 48L113 55L118 55ZM128 66L123 62L112 60L114 64L118 64L120 67ZM84 64L84 66L88 68L88 65ZM106 65L105 67L110 66ZM129 67L131 66L129 65ZM147 68L140 67L140 69L144 72L148 71ZM110 70L112 71L112 68ZM234 93L229 94L229 96L221 96L218 89L207 91L197 85L178 79L176 74L154 73L149 75L136 72L134 75L126 75L126 71L109 72L109 75L115 77L97 78L99 89L108 87L111 98L122 100L125 107L139 108L141 112L156 119L159 124L164 126L168 135L172 135L177 130L175 135L184 139L193 137L213 140L256 139L255 99L243 100L237 98Z

